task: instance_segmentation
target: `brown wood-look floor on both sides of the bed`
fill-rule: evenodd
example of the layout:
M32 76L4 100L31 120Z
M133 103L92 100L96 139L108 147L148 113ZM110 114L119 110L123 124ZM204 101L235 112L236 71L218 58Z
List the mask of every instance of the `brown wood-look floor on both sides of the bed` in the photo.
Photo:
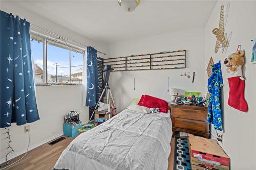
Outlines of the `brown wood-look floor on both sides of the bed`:
M67 136L65 136L67 137ZM37 147L31 151L28 152L28 154L19 162L15 163L14 165L6 168L6 169L12 169L12 170L50 170L54 166L55 162L58 160L60 154L62 151L69 145L69 143L74 138L67 137L66 139L54 144L49 145L48 143L41 145L40 147ZM168 169L167 170L173 170L174 167L174 138L172 138L172 141L170 142L170 145L172 147L172 151L170 152L170 156L168 158ZM24 154L23 154L24 155ZM9 164L12 162L15 162L19 158L23 157L23 155L20 155L16 158L11 159ZM5 164L5 163L3 163Z

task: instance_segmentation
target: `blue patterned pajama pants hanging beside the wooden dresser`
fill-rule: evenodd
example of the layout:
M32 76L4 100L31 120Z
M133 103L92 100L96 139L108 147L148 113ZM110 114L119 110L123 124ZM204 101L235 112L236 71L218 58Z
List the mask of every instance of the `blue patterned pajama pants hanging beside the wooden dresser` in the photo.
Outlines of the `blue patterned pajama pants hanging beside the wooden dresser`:
M222 131L222 115L220 104L220 90L223 87L221 63L212 65L212 74L208 79L210 93L207 122L214 124L214 128Z

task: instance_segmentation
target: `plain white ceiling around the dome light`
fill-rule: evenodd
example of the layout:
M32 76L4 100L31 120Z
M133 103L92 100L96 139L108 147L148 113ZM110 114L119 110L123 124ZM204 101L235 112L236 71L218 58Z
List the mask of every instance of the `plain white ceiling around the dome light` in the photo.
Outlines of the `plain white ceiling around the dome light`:
M115 1L18 1L88 38L114 42L204 27L217 1L146 1L125 12Z

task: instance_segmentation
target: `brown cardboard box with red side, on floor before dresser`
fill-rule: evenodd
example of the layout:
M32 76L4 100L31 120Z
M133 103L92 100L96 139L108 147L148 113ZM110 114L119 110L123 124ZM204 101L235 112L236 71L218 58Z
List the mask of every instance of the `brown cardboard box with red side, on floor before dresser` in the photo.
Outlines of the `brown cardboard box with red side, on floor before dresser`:
M188 134L188 146L191 164L202 164L210 168L223 170L228 169L230 159L216 140ZM207 161L202 162L198 158L205 159ZM216 164L220 163L221 165L214 165L208 161L216 162Z

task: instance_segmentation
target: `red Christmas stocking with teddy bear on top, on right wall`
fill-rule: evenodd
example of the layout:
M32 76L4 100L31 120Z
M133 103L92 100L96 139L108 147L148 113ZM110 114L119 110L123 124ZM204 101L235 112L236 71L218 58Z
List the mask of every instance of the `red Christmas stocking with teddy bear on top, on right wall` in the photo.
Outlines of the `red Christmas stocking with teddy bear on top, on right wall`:
M247 102L244 99L245 79L243 78L242 66L245 63L244 51L232 53L225 59L227 67L229 98L228 105L243 112L248 111Z

